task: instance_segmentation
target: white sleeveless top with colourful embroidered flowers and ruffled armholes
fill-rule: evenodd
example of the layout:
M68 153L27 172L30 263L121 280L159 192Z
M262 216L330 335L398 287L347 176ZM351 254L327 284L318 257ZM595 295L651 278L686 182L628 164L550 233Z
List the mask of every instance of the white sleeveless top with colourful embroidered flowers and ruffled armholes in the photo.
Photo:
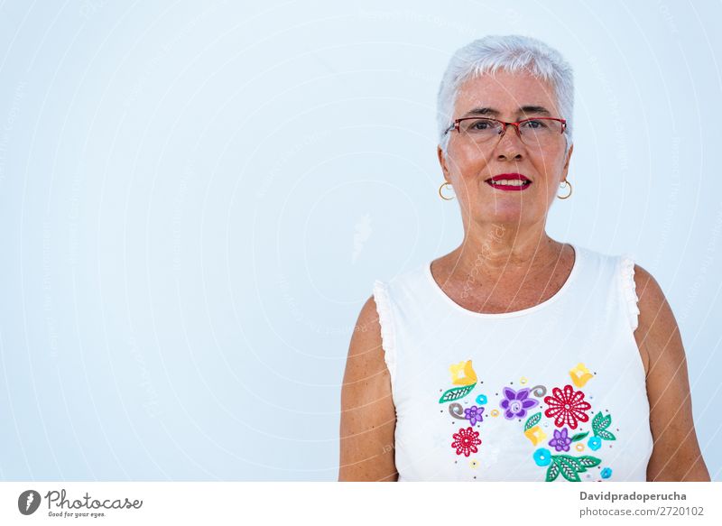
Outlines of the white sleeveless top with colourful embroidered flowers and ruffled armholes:
M645 481L649 402L634 262L573 245L529 309L451 300L424 263L374 283L399 481Z

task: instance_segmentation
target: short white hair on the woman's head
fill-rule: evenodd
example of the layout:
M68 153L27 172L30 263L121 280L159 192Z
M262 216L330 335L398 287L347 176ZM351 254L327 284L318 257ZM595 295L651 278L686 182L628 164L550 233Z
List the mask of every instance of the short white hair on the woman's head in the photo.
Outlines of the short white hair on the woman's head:
M469 78L504 69L510 73L527 72L550 82L554 88L560 117L567 120L564 131L566 150L571 144L574 110L574 75L559 51L537 39L520 35L489 35L459 48L449 60L441 78L437 99L439 144L446 152L450 134L444 132L453 124L458 89Z

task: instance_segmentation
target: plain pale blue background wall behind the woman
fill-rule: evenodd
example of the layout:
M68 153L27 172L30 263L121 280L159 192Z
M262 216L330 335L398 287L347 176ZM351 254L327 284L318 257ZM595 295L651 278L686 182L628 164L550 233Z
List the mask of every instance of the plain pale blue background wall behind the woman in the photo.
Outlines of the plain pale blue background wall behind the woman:
M440 75L518 32L576 71L574 195L548 231L662 284L720 480L719 20L689 1L0 5L0 478L335 480L373 280L461 239Z

